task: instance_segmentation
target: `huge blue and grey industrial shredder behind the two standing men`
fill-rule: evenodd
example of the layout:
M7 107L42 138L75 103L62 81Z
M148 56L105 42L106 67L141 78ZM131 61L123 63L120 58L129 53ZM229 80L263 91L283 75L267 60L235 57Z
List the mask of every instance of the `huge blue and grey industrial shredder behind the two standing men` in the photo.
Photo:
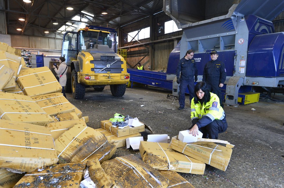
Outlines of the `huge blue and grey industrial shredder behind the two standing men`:
M283 12L284 1L214 2L164 0L163 11L184 31L180 45L171 52L168 61L166 80L173 80L173 95L178 95L177 62L188 49L195 53L198 81L202 80L210 51L218 51L218 59L225 63L227 70L222 88L225 104L238 104L238 93L251 91L253 86L270 88L283 85L284 32L275 33L271 21ZM224 12L227 14L224 15ZM130 75L131 80L133 75Z

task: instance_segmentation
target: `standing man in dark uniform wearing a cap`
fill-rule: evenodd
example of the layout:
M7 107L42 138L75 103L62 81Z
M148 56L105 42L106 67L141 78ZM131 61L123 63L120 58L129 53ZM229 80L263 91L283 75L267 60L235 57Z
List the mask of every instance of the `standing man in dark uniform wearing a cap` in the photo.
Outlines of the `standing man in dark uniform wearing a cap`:
M204 66L202 81L206 82L209 91L215 93L220 99L220 106L224 107L222 101L221 87L224 86L226 80L225 64L218 60L216 50L210 52L211 61L208 61Z

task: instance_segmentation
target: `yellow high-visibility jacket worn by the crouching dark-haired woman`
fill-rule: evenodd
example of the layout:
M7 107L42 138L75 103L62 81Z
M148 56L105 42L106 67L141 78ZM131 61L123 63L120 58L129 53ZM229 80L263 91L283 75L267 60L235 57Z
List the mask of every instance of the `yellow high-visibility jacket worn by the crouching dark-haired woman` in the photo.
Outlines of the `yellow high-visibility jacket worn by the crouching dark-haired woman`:
M206 104L194 104L194 98L191 100L190 118L193 122L197 119L198 128L204 127L214 121L215 119L222 120L225 117L225 112L220 106L220 100L214 93L210 93L210 101ZM195 120L195 121L194 121Z

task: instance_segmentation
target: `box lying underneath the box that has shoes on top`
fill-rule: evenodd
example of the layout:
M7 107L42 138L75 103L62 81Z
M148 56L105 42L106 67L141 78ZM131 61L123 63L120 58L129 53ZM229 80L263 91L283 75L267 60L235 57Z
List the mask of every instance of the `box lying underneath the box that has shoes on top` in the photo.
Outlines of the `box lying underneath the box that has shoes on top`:
M105 137L107 137L107 141L111 144L116 145L116 148L121 148L126 146L126 141L125 139L130 138L130 137L141 137L140 133L135 133L135 134L130 134L127 136L123 136L123 137L116 137L114 136L112 133L107 132L106 130L104 130L103 128L99 128L99 129L95 129L101 133L103 133L105 135Z

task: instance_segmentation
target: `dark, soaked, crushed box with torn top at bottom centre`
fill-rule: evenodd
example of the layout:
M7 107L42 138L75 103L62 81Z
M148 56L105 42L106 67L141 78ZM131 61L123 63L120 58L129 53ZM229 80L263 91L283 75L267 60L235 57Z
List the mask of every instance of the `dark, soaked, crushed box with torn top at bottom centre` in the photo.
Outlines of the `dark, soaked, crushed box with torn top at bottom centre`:
M133 154L102 163L105 173L123 187L168 187L169 180Z

